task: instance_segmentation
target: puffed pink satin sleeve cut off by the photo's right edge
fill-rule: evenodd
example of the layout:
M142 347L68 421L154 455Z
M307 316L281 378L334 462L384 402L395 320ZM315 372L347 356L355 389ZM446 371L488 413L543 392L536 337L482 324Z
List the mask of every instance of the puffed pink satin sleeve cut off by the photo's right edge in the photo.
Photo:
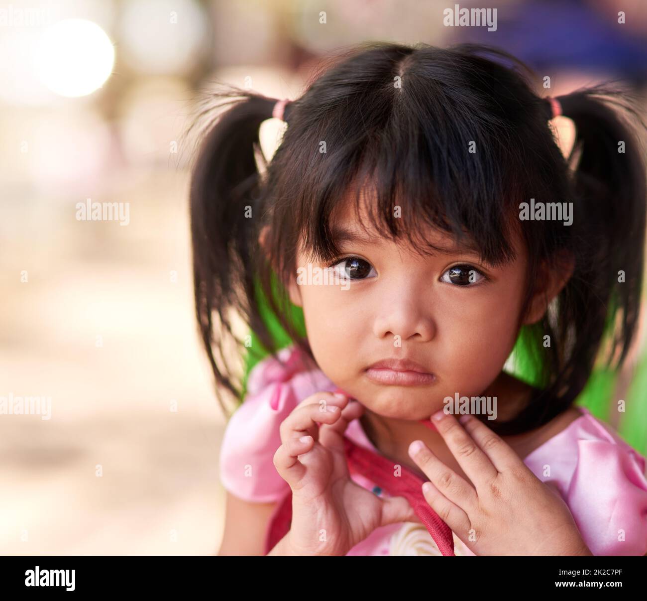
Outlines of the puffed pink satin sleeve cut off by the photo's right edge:
M566 502L593 555L647 552L645 459L624 443L578 440Z

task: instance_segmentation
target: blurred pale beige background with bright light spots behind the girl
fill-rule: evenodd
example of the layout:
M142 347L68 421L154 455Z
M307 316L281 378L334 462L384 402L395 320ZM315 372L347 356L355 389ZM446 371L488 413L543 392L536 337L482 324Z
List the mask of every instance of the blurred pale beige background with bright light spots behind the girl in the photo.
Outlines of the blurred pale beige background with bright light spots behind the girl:
M444 25L454 4L0 2L0 397L51 399L47 419L0 415L0 554L217 551L225 418L193 317L184 135L216 79L296 98L355 43L480 41L549 76L545 95L644 94L642 0L459 3L496 7L496 30ZM262 126L268 156L281 127ZM611 398L645 396L644 337L599 383ZM645 453L645 405L596 411Z

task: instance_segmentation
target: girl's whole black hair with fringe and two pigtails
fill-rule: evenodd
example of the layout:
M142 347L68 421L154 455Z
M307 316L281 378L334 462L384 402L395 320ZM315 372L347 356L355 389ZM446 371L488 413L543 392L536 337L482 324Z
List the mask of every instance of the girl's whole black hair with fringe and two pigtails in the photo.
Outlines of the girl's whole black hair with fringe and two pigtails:
M516 227L529 257L520 324L542 262L562 269L565 253L575 259L572 277L527 328L542 386L513 420L488 422L494 431L529 431L565 411L598 355L619 368L641 301L645 166L638 134L645 126L616 85L559 96L576 133L565 158L551 130L551 104L532 80L538 78L527 65L486 45L366 43L327 65L287 105L287 126L269 163L259 126L277 99L234 87L216 91L213 98L223 101L216 106L228 108L201 143L190 205L195 310L217 385L240 394L226 346L233 337L243 349L232 310L276 353L259 312L257 278L285 331L314 361L285 317L289 301L276 297L272 275L287 282L295 273L302 236L313 257L338 256L331 217L348 198L357 209L366 183L375 193L373 227L421 253L433 247L416 234L432 225L457 240L468 232L483 261L501 264L514 258ZM572 202L572 225L520 220L520 203L531 198ZM407 219L394 216L395 205Z

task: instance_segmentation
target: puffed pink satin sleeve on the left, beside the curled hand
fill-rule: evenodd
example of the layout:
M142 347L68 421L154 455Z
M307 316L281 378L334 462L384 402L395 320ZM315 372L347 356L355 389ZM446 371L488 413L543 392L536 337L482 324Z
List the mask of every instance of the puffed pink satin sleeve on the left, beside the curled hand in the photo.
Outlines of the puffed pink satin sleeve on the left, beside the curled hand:
M221 482L245 501L272 503L289 492L289 484L274 467L281 422L316 387L323 389L328 383L309 377L296 347L281 349L278 357L284 365L267 357L250 372L247 396L226 425L220 449Z

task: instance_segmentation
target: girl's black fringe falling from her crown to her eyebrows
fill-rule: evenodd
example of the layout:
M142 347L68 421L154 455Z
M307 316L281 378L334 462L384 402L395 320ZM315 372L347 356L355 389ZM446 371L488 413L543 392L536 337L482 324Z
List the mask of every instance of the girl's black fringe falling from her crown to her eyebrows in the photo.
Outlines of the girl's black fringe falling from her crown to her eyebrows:
M478 116L456 102L444 102L442 109L440 101L407 106L417 97L410 91L382 108L381 120L377 100L372 119L364 121L355 104L340 104L327 115L329 126L318 124L316 139L327 142L326 152L300 157L308 164L298 169L306 176L297 184L300 209L293 223L302 232L303 251L314 260L329 262L341 254L338 242L351 236L339 230L338 221L348 210L367 235L405 242L422 256L456 250L433 245L431 228L492 266L514 260L510 239L524 196L513 174L528 172L520 164L523 152L515 156L509 150L514 135L496 133L506 126L492 110L483 108ZM342 134L334 125L339 122L352 125Z

